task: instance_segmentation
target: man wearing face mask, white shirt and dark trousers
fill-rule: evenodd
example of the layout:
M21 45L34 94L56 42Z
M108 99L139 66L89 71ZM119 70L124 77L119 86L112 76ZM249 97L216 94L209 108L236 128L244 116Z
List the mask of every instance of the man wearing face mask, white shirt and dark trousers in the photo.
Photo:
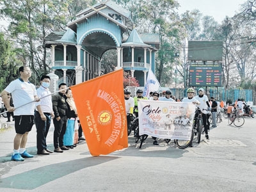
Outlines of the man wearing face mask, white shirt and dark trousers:
M40 102L36 103L35 110L36 148L37 154L42 155L49 155L52 153L46 145L46 137L51 125L51 119L54 118L52 96L48 88L50 82L51 78L49 76L42 76L40 79L41 86L36 90L38 97L42 98Z

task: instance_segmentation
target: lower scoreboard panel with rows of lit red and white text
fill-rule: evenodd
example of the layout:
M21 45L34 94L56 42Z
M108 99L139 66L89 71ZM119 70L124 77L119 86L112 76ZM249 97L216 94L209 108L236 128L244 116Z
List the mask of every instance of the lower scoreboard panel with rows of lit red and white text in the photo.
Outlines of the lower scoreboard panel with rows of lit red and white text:
M222 86L221 65L191 64L189 86Z

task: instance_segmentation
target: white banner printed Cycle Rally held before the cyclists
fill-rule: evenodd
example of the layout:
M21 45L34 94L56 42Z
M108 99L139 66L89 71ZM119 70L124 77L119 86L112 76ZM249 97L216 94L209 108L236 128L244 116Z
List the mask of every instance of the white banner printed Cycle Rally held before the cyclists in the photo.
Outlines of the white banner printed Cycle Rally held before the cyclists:
M156 138L190 140L195 105L186 102L140 100L138 102L140 135Z

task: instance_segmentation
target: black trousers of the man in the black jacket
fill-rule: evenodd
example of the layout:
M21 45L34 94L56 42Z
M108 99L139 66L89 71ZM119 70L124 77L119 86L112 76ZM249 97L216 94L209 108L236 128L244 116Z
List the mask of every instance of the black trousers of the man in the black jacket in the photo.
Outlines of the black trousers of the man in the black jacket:
M67 116L62 116L59 121L54 117L54 132L53 132L53 145L54 148L62 147L63 144L63 136L67 129Z

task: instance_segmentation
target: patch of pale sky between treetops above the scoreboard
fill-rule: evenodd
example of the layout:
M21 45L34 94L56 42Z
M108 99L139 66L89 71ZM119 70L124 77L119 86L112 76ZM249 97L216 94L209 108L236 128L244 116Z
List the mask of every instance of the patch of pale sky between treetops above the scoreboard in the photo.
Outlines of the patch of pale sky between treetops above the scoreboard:
M203 15L210 15L221 23L228 17L233 17L236 12L239 12L240 4L246 0L176 0L179 2L179 13L184 13L186 10L198 9Z

